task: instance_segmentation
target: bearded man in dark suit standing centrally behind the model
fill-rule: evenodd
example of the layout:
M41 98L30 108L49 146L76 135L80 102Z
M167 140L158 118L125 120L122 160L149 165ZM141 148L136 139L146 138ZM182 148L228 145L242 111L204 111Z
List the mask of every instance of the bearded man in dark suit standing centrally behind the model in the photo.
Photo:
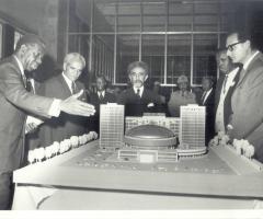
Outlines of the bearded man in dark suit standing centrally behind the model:
M117 103L125 105L126 116L142 116L144 113L164 113L163 101L151 90L145 88L149 68L144 61L129 64L128 78L132 88L123 91Z

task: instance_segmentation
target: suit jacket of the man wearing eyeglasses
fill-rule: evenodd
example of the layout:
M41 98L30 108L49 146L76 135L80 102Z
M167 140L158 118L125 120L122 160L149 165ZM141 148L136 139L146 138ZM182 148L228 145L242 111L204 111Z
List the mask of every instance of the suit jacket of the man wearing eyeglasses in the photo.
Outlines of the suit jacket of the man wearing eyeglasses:
M255 158L263 162L263 55L259 53L240 72L232 93L231 137L245 138L255 147Z

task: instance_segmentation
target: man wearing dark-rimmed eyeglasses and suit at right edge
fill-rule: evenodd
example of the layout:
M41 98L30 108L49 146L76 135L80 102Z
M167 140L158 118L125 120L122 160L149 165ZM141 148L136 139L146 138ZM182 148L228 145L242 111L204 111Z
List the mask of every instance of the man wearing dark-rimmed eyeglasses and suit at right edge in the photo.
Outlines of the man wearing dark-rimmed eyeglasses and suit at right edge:
M251 35L243 32L230 33L226 47L232 61L243 65L231 97L229 135L249 140L255 148L255 159L263 162L263 55Z

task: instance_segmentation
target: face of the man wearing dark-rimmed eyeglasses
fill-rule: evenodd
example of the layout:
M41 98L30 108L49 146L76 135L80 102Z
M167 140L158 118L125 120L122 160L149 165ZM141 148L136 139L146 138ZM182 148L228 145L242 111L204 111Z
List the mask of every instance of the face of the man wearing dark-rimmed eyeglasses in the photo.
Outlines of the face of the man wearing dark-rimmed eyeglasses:
M248 41L240 42L237 34L227 37L227 55L232 59L233 64L244 64L250 47Z

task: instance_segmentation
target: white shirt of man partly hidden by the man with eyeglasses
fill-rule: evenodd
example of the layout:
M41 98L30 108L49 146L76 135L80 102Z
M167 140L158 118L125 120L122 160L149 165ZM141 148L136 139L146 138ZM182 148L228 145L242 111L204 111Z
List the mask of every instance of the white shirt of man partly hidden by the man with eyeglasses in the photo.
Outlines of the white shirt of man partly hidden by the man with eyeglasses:
M221 88L221 92L220 92L220 99L219 99L219 103L218 103L218 106L217 106L217 112L216 112L216 132L218 131L224 131L226 132L225 130L225 122L224 122L224 102L225 102L225 99L227 96L227 93L228 93L228 90L235 85L235 77L237 76L239 71L239 68L236 68L233 69L232 71L230 71L228 73L228 77L227 77L227 81L226 81L226 87L225 87L225 92L224 92L224 88ZM225 78L226 80L226 78ZM222 85L224 85L225 81L222 82Z

